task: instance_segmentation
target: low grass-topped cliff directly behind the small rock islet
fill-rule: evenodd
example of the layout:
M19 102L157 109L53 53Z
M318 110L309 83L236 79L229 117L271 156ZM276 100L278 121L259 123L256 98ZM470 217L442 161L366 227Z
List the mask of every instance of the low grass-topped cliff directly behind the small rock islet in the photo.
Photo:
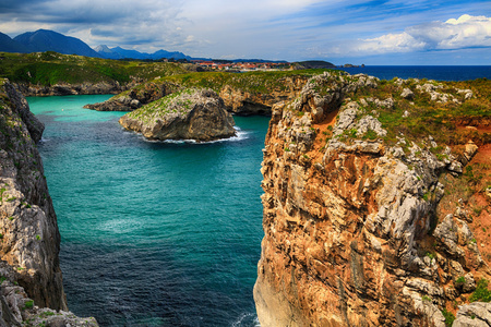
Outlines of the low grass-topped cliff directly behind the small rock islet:
M211 88L224 99L227 110L239 116L271 114L278 101L294 99L314 71L218 73L197 72L157 78L117 95L107 101L86 105L99 111L132 111L184 88Z

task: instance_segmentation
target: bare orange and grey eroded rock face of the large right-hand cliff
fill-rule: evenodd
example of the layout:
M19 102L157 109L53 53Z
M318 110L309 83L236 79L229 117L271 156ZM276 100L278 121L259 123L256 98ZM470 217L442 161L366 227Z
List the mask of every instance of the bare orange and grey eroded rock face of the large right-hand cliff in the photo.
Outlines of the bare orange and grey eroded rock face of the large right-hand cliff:
M472 232L458 208L435 217L452 160L428 150L432 138L428 148L383 141L373 104L392 108L391 98L345 99L376 83L325 73L273 107L254 287L263 327L445 326L445 305L474 290L483 263Z

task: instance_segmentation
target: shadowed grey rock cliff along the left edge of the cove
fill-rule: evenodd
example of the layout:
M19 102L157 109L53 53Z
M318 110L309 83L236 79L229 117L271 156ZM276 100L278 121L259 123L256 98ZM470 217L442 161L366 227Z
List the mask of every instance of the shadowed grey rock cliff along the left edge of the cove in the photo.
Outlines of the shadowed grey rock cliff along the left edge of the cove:
M39 307L67 311L67 300L57 217L35 145L44 125L7 80L0 81L0 110L1 312L15 326L45 312Z

